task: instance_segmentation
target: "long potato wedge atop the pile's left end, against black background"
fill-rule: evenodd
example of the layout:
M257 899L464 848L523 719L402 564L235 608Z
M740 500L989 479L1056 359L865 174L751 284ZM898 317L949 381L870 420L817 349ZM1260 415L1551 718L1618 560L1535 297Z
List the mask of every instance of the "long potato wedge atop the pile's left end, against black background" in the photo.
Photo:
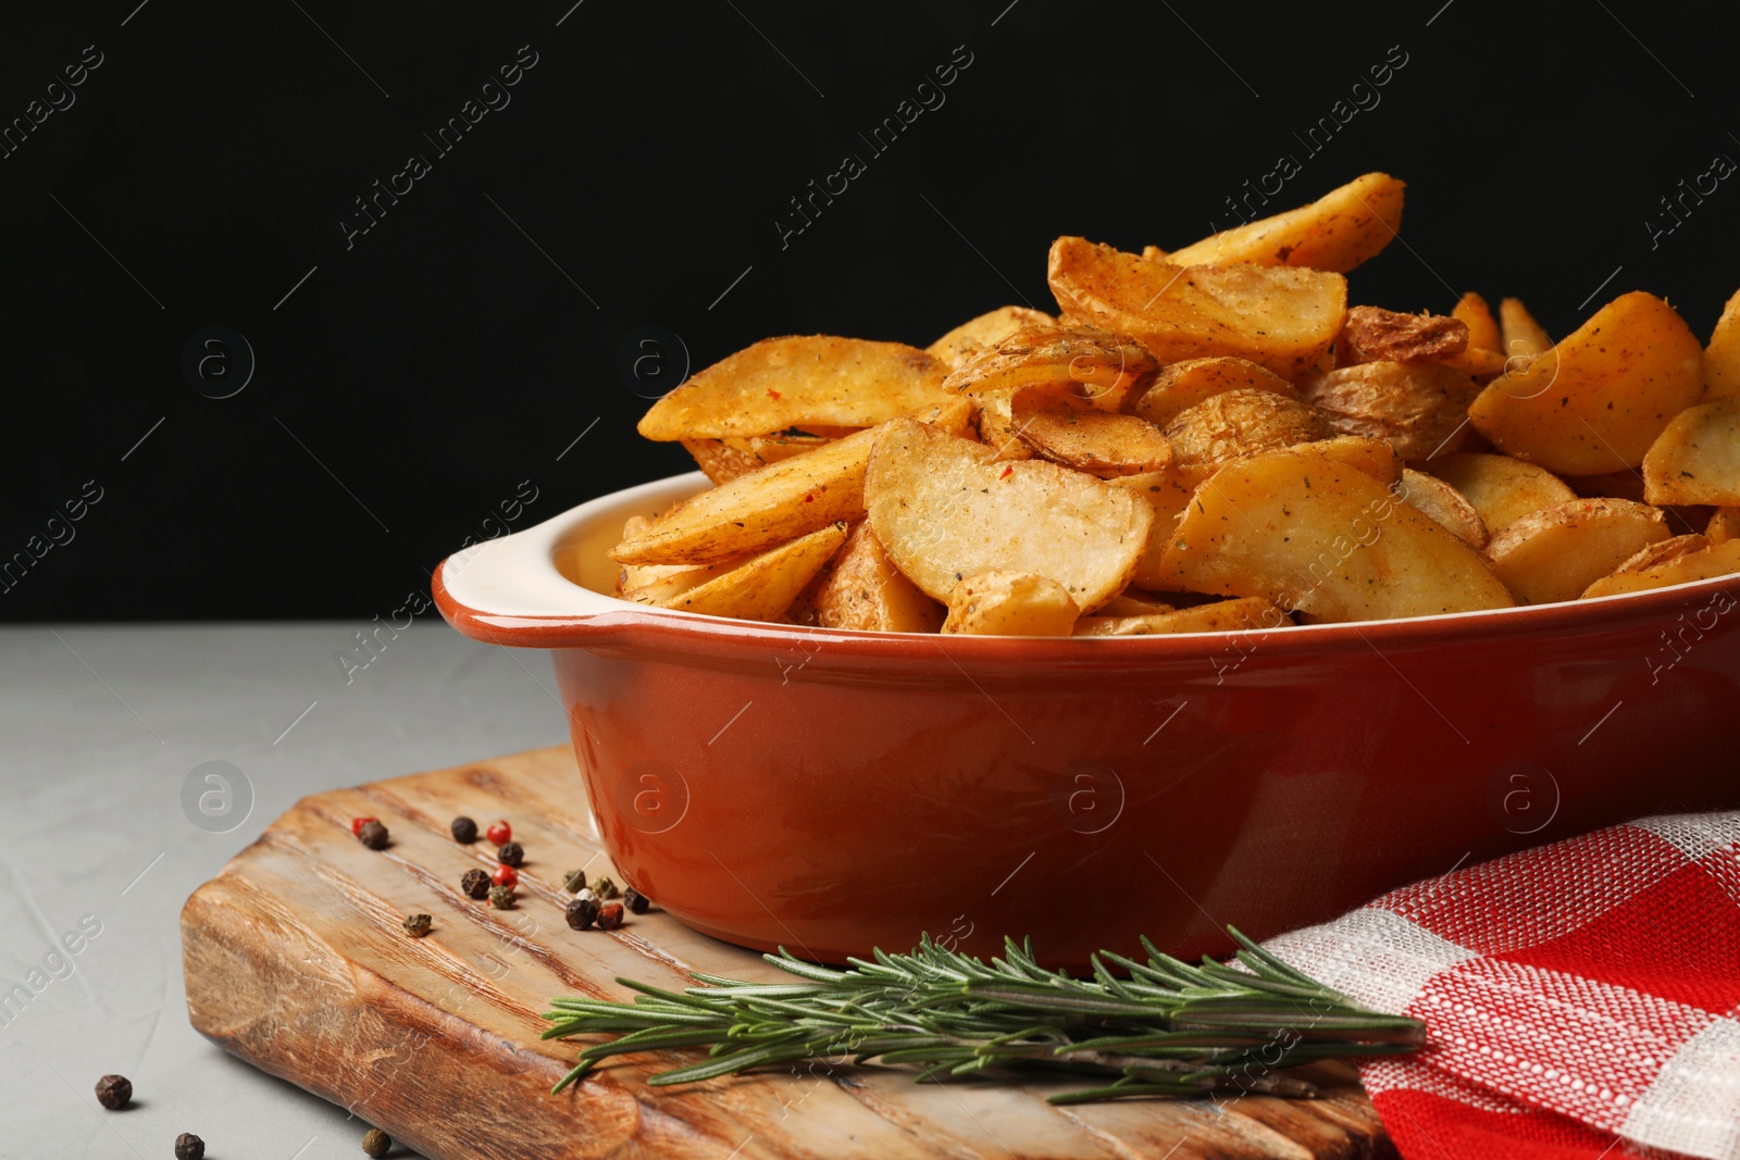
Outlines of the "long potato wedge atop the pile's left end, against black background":
M762 339L652 403L639 430L670 442L813 423L867 428L934 402L947 374L938 358L901 343L832 334Z

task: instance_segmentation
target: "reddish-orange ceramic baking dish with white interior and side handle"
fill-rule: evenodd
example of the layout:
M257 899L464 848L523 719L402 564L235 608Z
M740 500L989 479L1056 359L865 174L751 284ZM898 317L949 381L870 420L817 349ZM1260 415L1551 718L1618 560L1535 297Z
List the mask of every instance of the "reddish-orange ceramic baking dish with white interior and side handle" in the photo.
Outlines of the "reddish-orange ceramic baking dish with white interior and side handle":
M839 962L920 932L1082 965L1223 951L1625 817L1740 802L1740 577L1129 638L922 637L626 603L632 487L447 558L461 633L548 649L599 835L706 934ZM1599 873L1599 870L1594 870Z

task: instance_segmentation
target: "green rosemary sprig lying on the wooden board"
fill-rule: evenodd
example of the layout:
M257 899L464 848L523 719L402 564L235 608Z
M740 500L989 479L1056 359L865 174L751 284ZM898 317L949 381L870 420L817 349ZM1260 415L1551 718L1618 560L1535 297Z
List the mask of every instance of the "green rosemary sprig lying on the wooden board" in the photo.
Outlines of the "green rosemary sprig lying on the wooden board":
M708 1057L649 1083L689 1083L802 1059L919 1064L938 1080L983 1068L1067 1071L1108 1080L1051 1103L1129 1096L1199 1096L1239 1089L1315 1094L1274 1071L1345 1056L1408 1052L1418 1019L1383 1016L1293 970L1232 927L1244 970L1204 957L1201 967L1141 939L1148 962L1101 951L1093 979L1044 970L1032 941L1006 943L988 963L929 936L910 955L873 951L833 970L764 958L802 983L745 983L694 974L668 991L618 979L630 1003L553 998L543 1038L614 1035L579 1052L555 1092L626 1052L708 1047ZM1114 969L1128 977L1119 977Z

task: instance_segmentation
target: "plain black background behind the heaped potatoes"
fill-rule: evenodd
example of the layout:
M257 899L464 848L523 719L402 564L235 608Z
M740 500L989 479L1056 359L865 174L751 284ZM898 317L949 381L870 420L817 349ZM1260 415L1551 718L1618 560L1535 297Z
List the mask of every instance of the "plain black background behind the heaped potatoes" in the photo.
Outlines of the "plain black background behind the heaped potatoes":
M525 527L687 470L633 433L635 329L696 369L769 334L926 344L1049 306L1060 233L1174 249L1230 224L1282 153L1302 172L1270 212L1409 183L1406 245L1354 301L1516 294L1564 334L1646 289L1707 336L1740 285L1740 181L1646 224L1740 158L1731 50L1691 7L571 3L9 14L0 123L87 45L103 64L0 160L0 560L87 480L103 497L0 617L388 614L517 494ZM522 45L510 104L438 155L423 134ZM957 45L945 103L873 157L858 134ZM1312 155L1295 134L1392 45L1380 103ZM432 172L346 247L353 198L412 153ZM867 172L781 245L788 198L847 153ZM181 370L209 325L256 358L230 398Z

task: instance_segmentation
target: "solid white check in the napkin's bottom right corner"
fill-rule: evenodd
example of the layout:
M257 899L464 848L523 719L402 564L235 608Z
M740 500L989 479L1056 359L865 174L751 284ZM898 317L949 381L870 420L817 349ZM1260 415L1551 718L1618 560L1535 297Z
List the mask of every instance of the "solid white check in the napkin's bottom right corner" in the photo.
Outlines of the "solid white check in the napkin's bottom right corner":
M1691 1037L1618 1132L1691 1157L1740 1160L1740 1023L1716 1019Z

